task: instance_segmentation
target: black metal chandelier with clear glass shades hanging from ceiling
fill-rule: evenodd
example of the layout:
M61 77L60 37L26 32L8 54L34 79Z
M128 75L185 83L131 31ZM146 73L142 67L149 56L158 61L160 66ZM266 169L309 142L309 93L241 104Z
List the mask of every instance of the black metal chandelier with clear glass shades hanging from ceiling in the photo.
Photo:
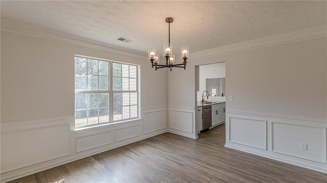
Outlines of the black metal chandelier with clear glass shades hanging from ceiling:
M173 18L168 17L166 18L166 22L168 23L168 44L164 44L164 57L166 58L166 65L159 65L159 54L156 53L155 48L149 48L148 55L149 60L151 61L152 67L155 66L155 70L160 68L170 68L172 71L173 67L179 68L186 68L186 63L188 62L189 57L189 46L181 46L180 53L181 53L181 64L174 64L175 63L175 55L172 54L173 45L170 43L170 23L174 21Z

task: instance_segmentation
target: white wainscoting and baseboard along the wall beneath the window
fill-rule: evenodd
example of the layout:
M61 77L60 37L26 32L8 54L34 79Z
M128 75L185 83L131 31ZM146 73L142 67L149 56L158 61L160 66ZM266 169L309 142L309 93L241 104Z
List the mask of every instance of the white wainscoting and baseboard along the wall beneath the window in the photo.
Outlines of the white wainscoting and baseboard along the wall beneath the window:
M2 138L1 158L2 160L7 159L7 161L1 162L0 181L15 180L80 160L90 155L166 133L168 132L166 111L167 106L146 108L142 109L141 114L145 119L79 130L74 130L74 116L2 123L0 133ZM157 118L162 120L153 120ZM65 136L60 136L62 138L56 138L58 135L58 125L60 132L65 132ZM12 141L17 143L11 143ZM92 143L94 141L97 143ZM40 151L37 148L40 144L46 144L48 151ZM54 144L56 145L55 147L53 147ZM25 152L21 150L24 147L33 148ZM55 149L52 152L53 148ZM15 152L20 154L15 154ZM17 155L22 156L22 162L16 160L15 157Z

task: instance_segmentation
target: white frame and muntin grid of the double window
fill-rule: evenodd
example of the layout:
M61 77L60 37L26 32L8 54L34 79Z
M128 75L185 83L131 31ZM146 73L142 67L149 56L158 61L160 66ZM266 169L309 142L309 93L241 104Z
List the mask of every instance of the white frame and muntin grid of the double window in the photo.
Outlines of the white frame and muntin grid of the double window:
M139 80L140 80L139 69L140 69L140 66L139 65L131 64L131 63L124 63L124 62L117 62L117 61L106 60L106 59L99 59L99 58L94 58L94 57L87 57L87 56L75 55L75 57L74 57L74 68L75 68L75 58L76 57L78 57L78 58L84 58L84 59L92 59L92 60L97 60L97 61L105 61L105 62L108 62L108 72L109 72L108 73L108 90L99 90L99 79L98 79L98 90L88 90L87 88L86 88L86 90L75 90L75 88L74 88L74 91L75 91L75 94L77 94L77 93L83 93L84 94L85 93L86 95L88 95L89 93L108 93L109 94L109 104L108 104L108 108L109 108L109 121L108 122L99 123L99 114L98 114L98 123L96 123L96 124L88 124L88 122L87 122L87 125L76 127L76 121L75 121L75 123L74 123L75 129L85 128L85 127L87 128L87 127L90 127L90 126L98 126L98 125L103 125L103 124L108 124L108 123L109 124L112 124L112 123L116 123L116 122L130 121L130 120L138 119L139 118L139 108L140 108L140 105L139 105L139 95L140 95L139 94ZM124 64L124 65L129 65L129 66L136 66L136 90L113 90L113 77L117 77L117 76L113 76L112 63ZM86 60L86 67L87 67L87 60ZM99 65L98 65L98 71L99 71ZM75 75L75 71L74 71L74 75ZM130 73L129 73L129 76L130 76ZM123 75L122 75L121 78L123 79L123 78L127 78L127 77L123 77ZM130 79L130 77L128 77L128 78ZM86 80L86 83L87 82L88 82L88 80ZM123 80L122 80L122 82L123 82ZM130 83L129 83L129 86L130 86ZM75 87L75 80L74 80L74 87ZM123 83L122 83L122 89L123 89ZM137 96L137 100L136 100L136 102L137 102L137 104L136 104L136 111L137 111L136 112L136 117L127 118L127 119L121 119L121 120L115 120L115 121L113 120L113 108L114 108L113 107L113 94L114 93L122 93L122 95L124 93L136 93L136 96ZM131 100L131 99L129 98L129 100ZM75 95L74 95L74 103L76 105ZM86 103L86 105L87 105L86 106L86 118L88 120L88 110L89 110L88 109L88 103ZM129 103L129 106L135 106L135 105L131 105ZM123 107L124 107L124 103L122 101L122 108ZM98 107L98 109L100 109L100 108ZM76 110L76 106L75 106L75 119L76 119L76 111L77 110ZM122 118L123 118L123 116L122 116Z

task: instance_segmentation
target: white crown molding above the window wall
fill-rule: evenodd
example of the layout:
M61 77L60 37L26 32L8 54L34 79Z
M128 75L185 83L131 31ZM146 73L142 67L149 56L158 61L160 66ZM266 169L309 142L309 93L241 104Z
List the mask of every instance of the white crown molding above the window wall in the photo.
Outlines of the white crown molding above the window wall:
M138 58L142 60L145 59L147 60L148 57L147 54L139 51L135 51L119 46L114 46L111 44L94 41L79 36L60 33L57 31L52 31L49 29L44 29L44 28L36 27L34 25L29 25L17 21L4 19L4 18L1 18L1 31L27 35L31 37L46 39L46 40L60 42L60 43L66 43L69 45L100 50L110 54L121 55L131 58Z

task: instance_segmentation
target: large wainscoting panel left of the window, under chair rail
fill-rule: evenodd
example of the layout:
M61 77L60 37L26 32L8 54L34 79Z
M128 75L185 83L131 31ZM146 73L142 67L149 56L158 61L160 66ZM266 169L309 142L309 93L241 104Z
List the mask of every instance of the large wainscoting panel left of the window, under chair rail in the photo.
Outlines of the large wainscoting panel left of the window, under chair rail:
M13 122L14 123L14 122ZM39 127L35 127L39 124ZM1 173L53 160L71 153L70 123L1 133Z

